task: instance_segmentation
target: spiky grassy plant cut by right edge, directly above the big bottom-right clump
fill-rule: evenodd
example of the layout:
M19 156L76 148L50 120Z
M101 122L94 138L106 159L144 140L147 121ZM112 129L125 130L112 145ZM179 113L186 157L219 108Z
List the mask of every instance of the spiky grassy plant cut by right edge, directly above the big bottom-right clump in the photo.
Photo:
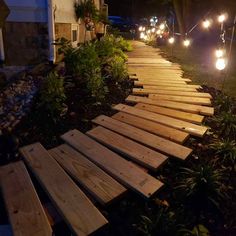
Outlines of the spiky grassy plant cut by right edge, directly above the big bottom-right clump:
M220 160L223 160L223 163L235 163L236 142L234 140L222 139L211 144L210 148L216 151L216 155L220 157Z

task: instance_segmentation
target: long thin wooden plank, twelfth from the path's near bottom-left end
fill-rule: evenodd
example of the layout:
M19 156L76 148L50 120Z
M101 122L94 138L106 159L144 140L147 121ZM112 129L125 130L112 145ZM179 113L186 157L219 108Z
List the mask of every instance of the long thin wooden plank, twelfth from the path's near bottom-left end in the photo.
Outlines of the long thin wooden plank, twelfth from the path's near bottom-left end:
M172 91L172 90L161 90L161 89L140 89L134 88L134 94L163 94L163 95L177 95L184 97L200 97L200 98L212 98L209 93L200 93L200 92L184 92L184 91Z

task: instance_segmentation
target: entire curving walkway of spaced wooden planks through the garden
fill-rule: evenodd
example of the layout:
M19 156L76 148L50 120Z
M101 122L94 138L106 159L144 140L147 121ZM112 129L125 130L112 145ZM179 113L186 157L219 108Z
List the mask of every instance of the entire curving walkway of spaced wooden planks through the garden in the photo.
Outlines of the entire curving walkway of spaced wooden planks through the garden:
M127 66L136 88L126 104L114 106L116 114L96 117L93 123L97 126L86 134L66 132L61 136L65 143L51 150L39 143L20 149L75 235L92 234L107 224L86 194L102 207L124 197L128 190L152 197L163 186L151 175L153 171L165 168L169 157L186 160L193 150L185 141L190 135L202 137L207 131L202 125L204 116L214 114L211 95L199 92L200 85L184 78L180 65L164 59L159 49L137 41L132 44ZM13 189L14 181L19 186ZM51 234L22 162L0 168L0 184L15 235ZM25 191L18 196L22 188ZM34 212L35 207L40 210ZM35 229L25 208L36 222ZM29 224L22 234L18 222L21 228Z

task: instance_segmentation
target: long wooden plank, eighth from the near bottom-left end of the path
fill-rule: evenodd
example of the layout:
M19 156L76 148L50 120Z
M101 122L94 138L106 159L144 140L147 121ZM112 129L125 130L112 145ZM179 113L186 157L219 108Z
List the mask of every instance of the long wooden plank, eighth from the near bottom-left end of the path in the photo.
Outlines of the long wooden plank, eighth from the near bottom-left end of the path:
M147 120L151 120L151 121L163 124L163 125L167 125L172 128L183 130L185 132L188 132L189 134L192 134L198 137L202 137L207 131L207 127L204 127L204 126L192 124L190 122L160 115L154 112L137 109L135 107L127 106L124 104L118 104L114 106L113 109L131 114L134 116L138 116Z

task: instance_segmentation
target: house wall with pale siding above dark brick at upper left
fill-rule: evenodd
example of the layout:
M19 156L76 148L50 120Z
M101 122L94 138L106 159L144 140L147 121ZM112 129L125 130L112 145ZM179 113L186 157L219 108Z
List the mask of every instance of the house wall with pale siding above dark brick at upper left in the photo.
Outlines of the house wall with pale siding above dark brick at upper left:
M3 0L10 9L2 28L7 65L29 65L57 60L53 42L67 38L76 46L94 37L83 21L76 19L75 0ZM80 1L80 0L78 0ZM100 10L103 0L94 0Z

